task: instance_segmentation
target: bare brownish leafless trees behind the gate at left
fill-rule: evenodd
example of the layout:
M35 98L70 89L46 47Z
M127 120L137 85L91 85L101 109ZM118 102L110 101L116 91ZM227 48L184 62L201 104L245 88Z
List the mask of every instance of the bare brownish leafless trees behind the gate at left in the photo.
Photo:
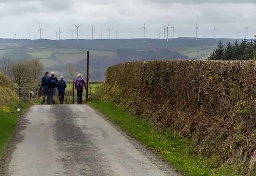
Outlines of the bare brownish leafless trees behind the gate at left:
M0 71L12 78L19 87L38 82L44 74L44 64L37 58L32 60L0 59Z

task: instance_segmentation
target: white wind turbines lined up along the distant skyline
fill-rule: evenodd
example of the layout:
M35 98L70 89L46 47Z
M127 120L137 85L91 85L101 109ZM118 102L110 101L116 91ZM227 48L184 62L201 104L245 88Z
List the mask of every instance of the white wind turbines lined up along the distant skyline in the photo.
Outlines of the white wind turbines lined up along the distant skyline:
M71 32L72 32L72 39L74 39L74 32L76 31L76 41L78 41L78 28L81 26L81 25L79 25L79 26L77 26L76 24L74 24L74 26L76 27L76 30L72 30L72 29L70 29L71 30ZM214 40L216 40L216 28L215 28L215 26L213 26L214 27ZM172 38L174 38L174 24L173 24L173 26L172 27L170 27L170 23L167 25L167 26L162 26L162 28L164 28L164 39L165 39L165 32L167 32L167 42L169 41L169 28L172 28ZM245 28L246 28L246 38L248 39L248 28L249 28L249 26L245 26ZM110 39L110 29L111 29L111 27L109 27L109 28L107 28L107 30L108 30L108 38ZM145 27L145 23L144 23L144 26L143 27L141 27L140 29L143 29L143 42L145 42L145 31L146 31L146 27ZM38 31L40 31L40 39L41 39L41 31L42 30L44 30L43 28L41 28L41 26L40 26L40 24L39 24L39 29L38 29ZM37 31L37 32L38 32ZM197 22L196 22L196 40L198 39L198 31L199 31L199 29L198 29L198 26L197 26ZM29 31L28 31L29 32ZM58 40L58 32L59 32L59 40L60 40L60 34L61 34L61 30L60 30L60 28L59 28L59 31L55 31L55 33L56 33L56 40ZM116 39L117 39L117 30L116 30ZM94 28L93 28L93 24L92 24L92 40L93 40L93 33L94 33ZM160 35L161 35L161 33L162 32L157 32L158 33L158 35L159 35L159 39L160 39ZM16 34L17 33L15 33L14 35L15 35L15 39L16 39ZM102 31L101 31L101 39L102 39ZM36 35L35 35L35 39L36 39ZM132 36L130 36L130 37L132 37ZM29 40L31 40L31 32L29 32Z

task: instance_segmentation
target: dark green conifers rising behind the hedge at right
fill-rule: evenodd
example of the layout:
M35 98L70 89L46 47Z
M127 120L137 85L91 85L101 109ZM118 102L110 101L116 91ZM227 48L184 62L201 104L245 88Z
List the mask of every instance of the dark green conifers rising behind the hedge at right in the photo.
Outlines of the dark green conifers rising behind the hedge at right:
M224 45L221 41L208 60L249 60L256 56L256 36L255 39L244 39L241 43L236 40L233 44L228 42Z

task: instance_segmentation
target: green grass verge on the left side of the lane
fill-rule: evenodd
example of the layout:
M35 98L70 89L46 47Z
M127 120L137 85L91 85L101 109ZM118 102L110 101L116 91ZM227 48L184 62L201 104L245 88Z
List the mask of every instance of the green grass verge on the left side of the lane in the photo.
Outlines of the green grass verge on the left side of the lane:
M17 103L11 103L7 107L0 107L0 158L3 156L8 143L12 139L19 116L25 113L30 106L29 103L21 103L19 108L22 111L18 113L15 108L16 105Z

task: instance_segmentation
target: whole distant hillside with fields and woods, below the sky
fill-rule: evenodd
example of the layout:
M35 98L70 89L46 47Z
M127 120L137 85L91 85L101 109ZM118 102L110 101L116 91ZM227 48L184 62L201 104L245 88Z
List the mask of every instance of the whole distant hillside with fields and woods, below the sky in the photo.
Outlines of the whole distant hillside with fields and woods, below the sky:
M28 40L0 39L0 58L12 60L39 58L47 71L67 75L67 65L73 64L85 74L86 51L90 51L91 78L104 80L105 70L126 61L154 59L204 60L216 48L220 39L103 39L103 40ZM235 39L221 39L223 44ZM238 40L239 42L241 39ZM18 53L17 53L18 52ZM17 56L17 57L16 57Z

